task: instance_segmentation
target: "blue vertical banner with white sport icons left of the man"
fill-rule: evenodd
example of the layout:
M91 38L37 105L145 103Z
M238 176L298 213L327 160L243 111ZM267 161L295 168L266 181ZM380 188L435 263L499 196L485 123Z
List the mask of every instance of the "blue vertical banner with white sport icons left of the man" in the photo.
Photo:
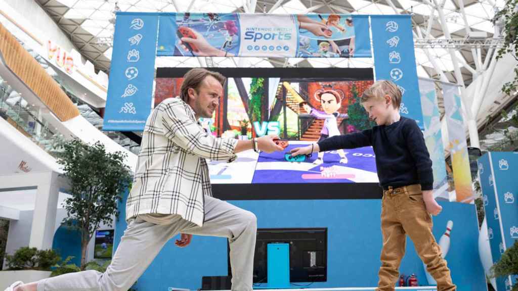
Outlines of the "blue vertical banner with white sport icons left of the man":
M151 111L157 13L118 12L103 130L142 131Z

